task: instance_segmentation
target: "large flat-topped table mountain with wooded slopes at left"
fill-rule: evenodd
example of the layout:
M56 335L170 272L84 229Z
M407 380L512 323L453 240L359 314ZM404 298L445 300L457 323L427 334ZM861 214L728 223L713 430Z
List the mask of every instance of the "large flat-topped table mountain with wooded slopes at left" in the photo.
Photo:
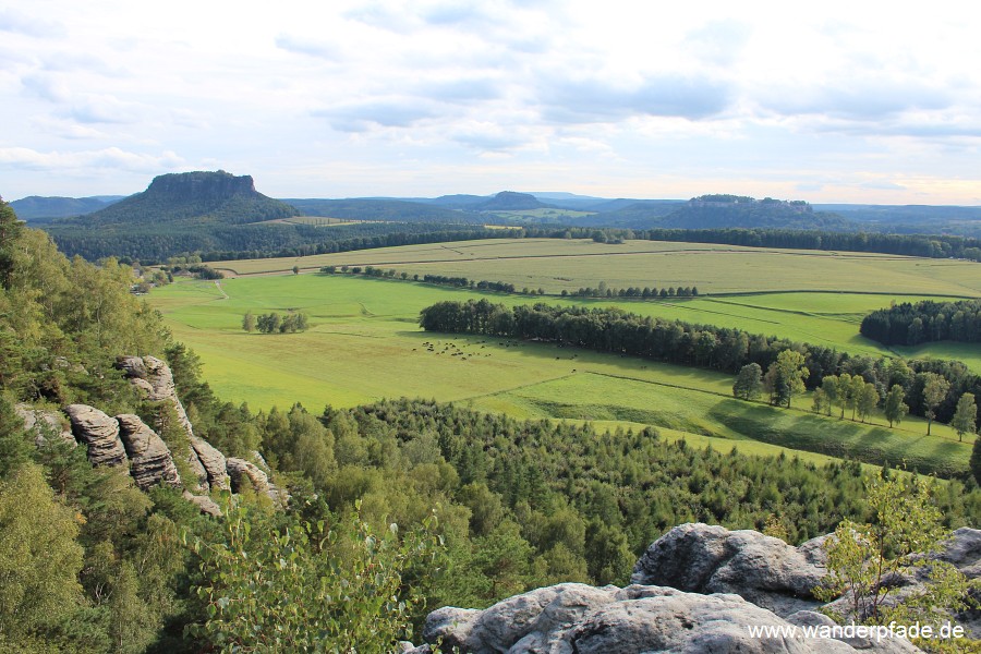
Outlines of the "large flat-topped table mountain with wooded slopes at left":
M161 174L143 193L73 222L84 228L182 220L241 225L299 214L295 207L258 193L252 177L219 170Z

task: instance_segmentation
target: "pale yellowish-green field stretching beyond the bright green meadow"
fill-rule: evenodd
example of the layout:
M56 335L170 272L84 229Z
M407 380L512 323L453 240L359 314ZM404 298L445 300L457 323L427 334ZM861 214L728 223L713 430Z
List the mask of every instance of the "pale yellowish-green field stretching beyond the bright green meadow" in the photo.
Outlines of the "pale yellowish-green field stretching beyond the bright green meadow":
M505 281L554 295L605 281L614 289L695 286L701 294L871 291L981 296L981 274L971 262L659 241L488 239L210 265L237 275L288 271L293 266L376 266L420 277Z

